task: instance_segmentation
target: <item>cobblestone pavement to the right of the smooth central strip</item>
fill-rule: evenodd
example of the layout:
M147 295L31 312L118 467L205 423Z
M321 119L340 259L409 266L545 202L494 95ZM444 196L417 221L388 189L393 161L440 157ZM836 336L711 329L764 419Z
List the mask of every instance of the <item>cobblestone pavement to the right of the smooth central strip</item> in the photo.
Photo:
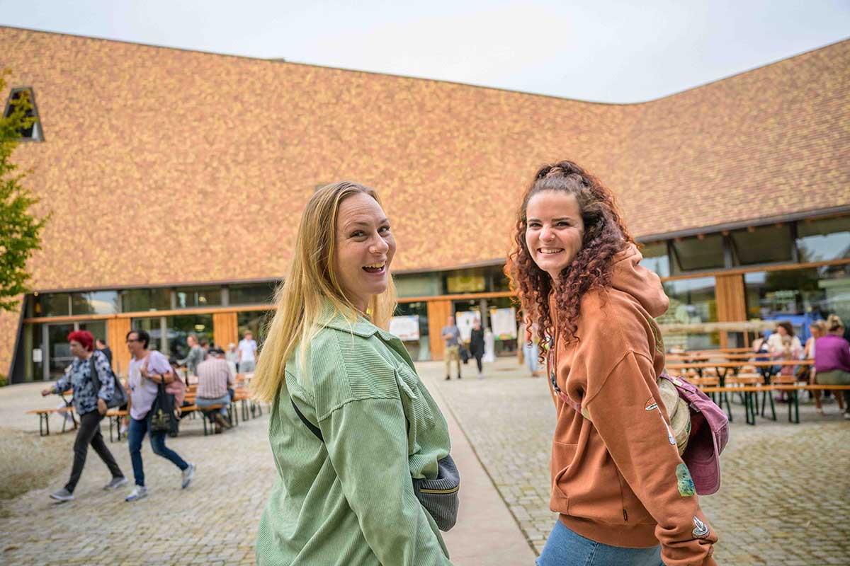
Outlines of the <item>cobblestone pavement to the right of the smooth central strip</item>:
M549 457L554 407L544 378L530 378L515 359L500 359L474 377L443 381L439 362L419 364L439 388L501 492L530 544L539 553L556 515L549 511ZM468 369L467 369L468 368ZM837 406L801 406L802 423L744 423L734 406L731 440L723 451L723 486L700 503L720 541L723 566L850 564L850 422Z

